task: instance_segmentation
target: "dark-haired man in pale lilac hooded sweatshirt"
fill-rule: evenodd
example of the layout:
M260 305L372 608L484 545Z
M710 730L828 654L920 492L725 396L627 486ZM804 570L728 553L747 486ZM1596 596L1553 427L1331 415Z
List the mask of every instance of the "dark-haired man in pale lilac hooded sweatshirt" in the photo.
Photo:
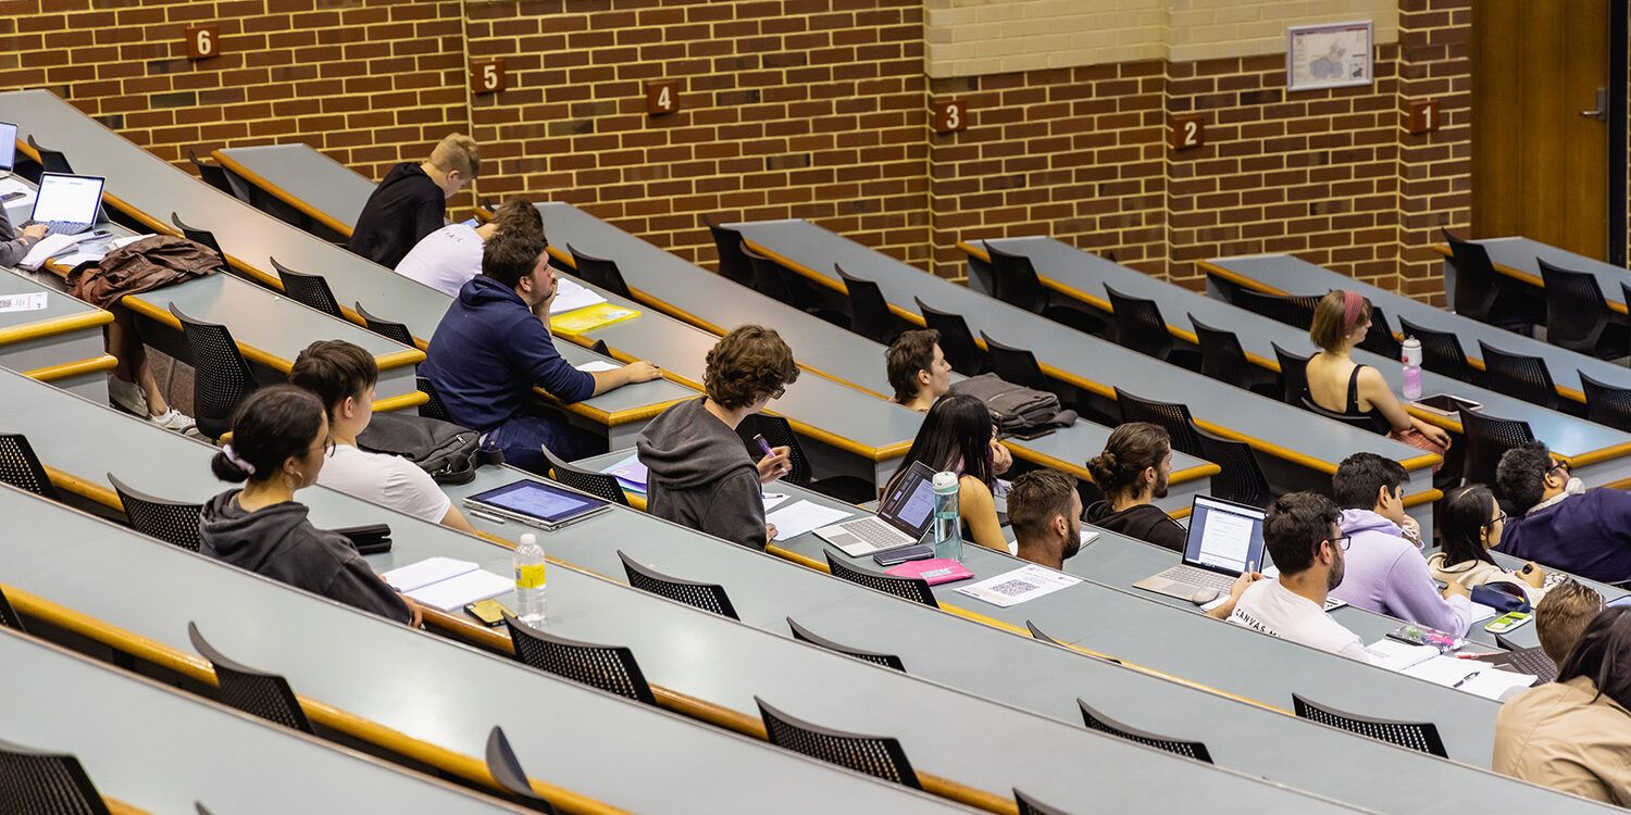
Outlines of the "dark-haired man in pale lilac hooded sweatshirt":
M1406 478L1398 461L1375 453L1354 453L1337 465L1331 489L1350 544L1347 572L1331 597L1460 637L1473 623L1473 598L1456 582L1440 595L1427 559L1406 538L1416 528L1404 515Z

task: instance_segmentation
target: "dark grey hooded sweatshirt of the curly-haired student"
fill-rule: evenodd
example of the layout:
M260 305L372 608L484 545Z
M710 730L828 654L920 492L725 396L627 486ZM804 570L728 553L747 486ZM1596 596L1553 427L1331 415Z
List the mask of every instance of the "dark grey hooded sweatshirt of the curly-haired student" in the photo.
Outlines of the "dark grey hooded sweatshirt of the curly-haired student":
M731 543L765 548L765 500L758 469L736 430L703 409L675 404L636 442L646 465L646 510Z

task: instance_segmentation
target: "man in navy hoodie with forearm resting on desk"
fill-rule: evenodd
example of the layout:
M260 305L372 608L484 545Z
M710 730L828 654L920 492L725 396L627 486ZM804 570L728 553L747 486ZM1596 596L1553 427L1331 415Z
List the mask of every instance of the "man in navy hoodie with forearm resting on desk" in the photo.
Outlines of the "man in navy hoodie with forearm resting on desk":
M662 375L649 362L586 373L555 350L550 303L555 271L543 236L499 231L481 251L481 274L435 326L419 373L431 380L455 424L481 430L504 461L543 473L543 447L563 460L605 452L605 442L533 408L533 386L563 403L599 396Z

